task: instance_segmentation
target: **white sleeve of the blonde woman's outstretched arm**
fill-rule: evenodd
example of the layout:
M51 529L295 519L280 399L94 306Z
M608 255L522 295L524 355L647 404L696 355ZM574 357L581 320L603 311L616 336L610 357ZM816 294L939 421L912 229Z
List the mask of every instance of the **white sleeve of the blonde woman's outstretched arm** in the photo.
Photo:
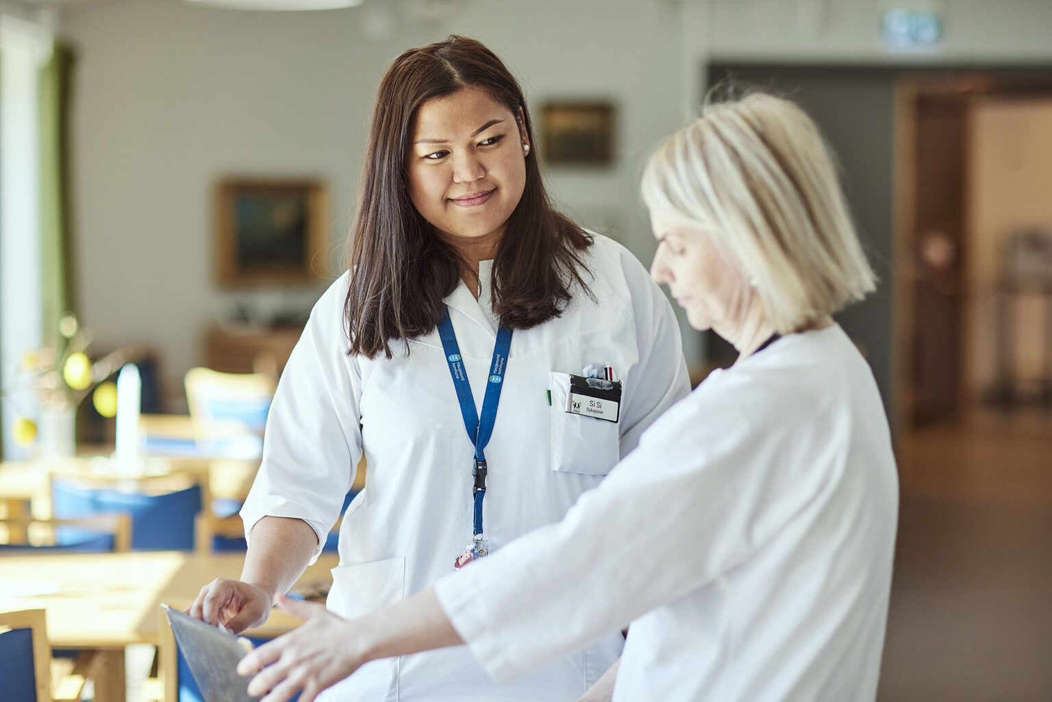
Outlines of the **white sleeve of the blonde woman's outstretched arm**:
M821 492L824 476L771 470L781 461L767 452L784 450L790 434L774 433L756 441L740 404L688 398L562 522L440 580L443 610L503 682L686 595Z

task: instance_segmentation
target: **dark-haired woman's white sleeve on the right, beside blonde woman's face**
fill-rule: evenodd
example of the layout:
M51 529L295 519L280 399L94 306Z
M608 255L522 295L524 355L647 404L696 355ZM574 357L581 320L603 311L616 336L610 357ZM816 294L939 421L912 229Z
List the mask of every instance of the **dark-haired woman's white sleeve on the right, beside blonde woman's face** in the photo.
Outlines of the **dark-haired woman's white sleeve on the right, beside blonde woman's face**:
M665 410L690 394L683 339L668 299L650 274L626 248L622 269L632 299L639 365L625 381L621 418L621 458L640 443L640 435ZM616 368L614 368L616 370Z

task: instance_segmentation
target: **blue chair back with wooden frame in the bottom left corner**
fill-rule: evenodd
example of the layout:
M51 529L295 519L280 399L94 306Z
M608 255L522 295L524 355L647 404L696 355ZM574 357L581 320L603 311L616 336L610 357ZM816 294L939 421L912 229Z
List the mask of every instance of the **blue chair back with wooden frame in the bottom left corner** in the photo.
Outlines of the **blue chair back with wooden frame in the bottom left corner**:
M0 613L0 689L4 702L50 702L50 647L43 609Z

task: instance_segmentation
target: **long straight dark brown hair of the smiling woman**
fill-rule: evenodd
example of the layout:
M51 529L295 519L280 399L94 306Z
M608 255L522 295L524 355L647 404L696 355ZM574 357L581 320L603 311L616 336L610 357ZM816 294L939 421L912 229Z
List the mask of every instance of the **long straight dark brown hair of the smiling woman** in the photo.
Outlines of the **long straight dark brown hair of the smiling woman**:
M406 156L417 109L425 101L473 86L511 111L529 143L529 111L519 83L482 43L452 36L411 48L391 64L377 94L351 232L350 288L344 317L350 354L368 358L390 342L429 334L443 299L460 281L461 261L409 199ZM574 284L588 292L582 252L591 238L551 206L533 154L526 156L522 199L508 218L492 273L501 324L528 329L558 317Z

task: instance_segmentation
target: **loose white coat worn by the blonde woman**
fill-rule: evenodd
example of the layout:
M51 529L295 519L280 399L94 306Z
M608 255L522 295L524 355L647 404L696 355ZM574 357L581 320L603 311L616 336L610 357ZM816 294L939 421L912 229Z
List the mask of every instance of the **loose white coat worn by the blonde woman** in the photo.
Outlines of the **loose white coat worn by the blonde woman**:
M499 680L631 622L615 702L871 701L897 499L869 367L838 326L789 335L437 591Z

